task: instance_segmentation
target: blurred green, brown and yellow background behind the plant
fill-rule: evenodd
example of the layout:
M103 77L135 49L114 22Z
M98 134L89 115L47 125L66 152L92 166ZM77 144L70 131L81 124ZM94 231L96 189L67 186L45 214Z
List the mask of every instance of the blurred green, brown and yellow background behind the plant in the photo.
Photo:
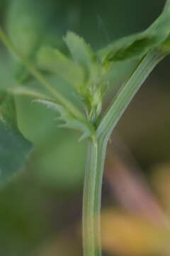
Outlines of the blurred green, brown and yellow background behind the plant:
M34 61L41 45L65 51L68 30L94 49L147 28L163 0L1 0L0 21L13 43ZM21 79L23 67L0 48L1 87ZM132 63L113 72L111 95ZM67 70L66 70L67 72ZM103 181L103 255L169 255L169 58L150 75L108 146ZM52 78L70 96L69 86ZM30 82L33 84L33 82ZM35 144L25 170L0 191L0 255L81 256L81 198L86 142L59 129L55 114L16 97L18 124Z

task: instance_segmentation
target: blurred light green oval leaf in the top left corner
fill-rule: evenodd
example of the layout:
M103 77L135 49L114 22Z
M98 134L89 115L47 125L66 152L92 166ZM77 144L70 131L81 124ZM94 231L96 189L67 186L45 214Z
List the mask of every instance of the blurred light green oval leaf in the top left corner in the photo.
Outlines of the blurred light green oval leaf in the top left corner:
M31 2L31 1L29 1ZM33 54L42 40L42 25L40 13L35 15L35 9L28 1L11 0L8 6L6 27L12 43L23 55L33 59ZM29 78L26 68L15 61L16 78L20 81Z

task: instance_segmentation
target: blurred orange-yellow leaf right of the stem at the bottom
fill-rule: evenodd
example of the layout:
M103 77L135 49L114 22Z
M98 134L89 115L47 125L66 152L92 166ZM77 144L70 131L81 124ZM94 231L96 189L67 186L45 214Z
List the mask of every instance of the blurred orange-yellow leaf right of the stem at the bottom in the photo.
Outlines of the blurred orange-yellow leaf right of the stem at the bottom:
M113 209L101 215L103 249L115 255L165 255L169 230Z

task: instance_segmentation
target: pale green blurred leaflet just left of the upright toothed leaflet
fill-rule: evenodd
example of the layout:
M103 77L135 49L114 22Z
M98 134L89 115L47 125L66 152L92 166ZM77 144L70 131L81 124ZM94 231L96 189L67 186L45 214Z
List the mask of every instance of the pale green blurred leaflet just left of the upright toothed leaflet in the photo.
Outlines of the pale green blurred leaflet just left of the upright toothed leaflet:
M38 68L59 75L78 89L84 82L84 70L55 48L42 47L37 62Z

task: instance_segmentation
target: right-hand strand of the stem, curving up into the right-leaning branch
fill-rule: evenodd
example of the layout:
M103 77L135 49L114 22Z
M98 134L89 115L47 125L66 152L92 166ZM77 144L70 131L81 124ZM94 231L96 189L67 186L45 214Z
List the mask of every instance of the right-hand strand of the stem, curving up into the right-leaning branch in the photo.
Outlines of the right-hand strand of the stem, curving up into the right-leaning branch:
M170 0L166 1L164 11L170 11ZM125 85L120 89L118 96L115 97L111 106L106 111L101 124L99 124L97 129L98 137L98 161L97 161L97 171L96 171L96 188L94 196L94 212L96 213L96 223L95 223L95 246L98 247L98 256L101 256L101 194L102 194L102 183L103 183L103 170L104 163L106 159L106 148L108 144L108 139L118 123L120 117L125 112L125 109L130 104L132 98L135 96L137 91L140 89L141 85L149 74L152 72L154 67L164 58L166 53L162 52L152 52L148 53L145 58L143 58L137 65L137 68L133 71L132 75L125 83ZM97 256L96 255L96 256ZM88 255L89 256L89 255Z

